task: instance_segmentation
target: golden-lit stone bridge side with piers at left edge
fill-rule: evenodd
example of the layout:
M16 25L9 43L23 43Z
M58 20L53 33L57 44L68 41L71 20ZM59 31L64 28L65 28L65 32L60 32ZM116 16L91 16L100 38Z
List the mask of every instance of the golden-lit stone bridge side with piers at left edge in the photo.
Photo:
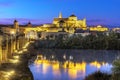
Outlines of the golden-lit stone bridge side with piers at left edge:
M25 36L0 35L0 64L12 58L14 52L21 50L27 42Z

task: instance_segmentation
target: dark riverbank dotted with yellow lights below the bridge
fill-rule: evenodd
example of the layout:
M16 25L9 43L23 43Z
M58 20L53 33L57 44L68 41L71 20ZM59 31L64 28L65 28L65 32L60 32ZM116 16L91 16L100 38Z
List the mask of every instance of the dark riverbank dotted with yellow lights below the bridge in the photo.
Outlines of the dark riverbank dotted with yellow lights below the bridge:
M28 66L29 60L34 56L31 48L30 44L27 49L14 53L8 62L0 65L0 80L33 80Z

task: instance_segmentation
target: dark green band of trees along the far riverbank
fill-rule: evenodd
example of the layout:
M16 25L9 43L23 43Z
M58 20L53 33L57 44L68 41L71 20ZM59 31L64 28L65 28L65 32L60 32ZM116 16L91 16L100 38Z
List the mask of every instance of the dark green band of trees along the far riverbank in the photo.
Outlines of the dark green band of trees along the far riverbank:
M42 39L35 43L35 48L44 49L93 49L93 50L120 50L120 34L109 35L59 35L53 39Z

